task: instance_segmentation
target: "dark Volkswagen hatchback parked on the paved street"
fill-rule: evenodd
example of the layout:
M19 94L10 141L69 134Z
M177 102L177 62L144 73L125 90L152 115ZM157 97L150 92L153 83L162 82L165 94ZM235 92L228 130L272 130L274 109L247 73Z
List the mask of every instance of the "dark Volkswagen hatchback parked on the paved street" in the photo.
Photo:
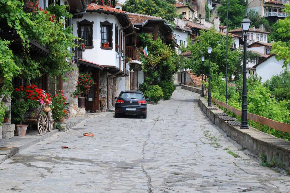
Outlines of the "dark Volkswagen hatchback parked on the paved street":
M121 91L119 97L114 98L115 104L115 117L120 114L142 115L144 119L147 117L147 103L143 92L135 90Z

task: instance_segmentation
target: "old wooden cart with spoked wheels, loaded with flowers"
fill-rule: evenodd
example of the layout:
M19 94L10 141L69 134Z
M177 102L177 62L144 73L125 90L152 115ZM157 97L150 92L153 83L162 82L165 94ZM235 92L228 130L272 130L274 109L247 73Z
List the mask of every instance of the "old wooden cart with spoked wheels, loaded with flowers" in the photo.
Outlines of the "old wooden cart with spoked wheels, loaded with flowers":
M24 114L24 121L30 126L37 125L38 133L50 132L53 127L52 111L45 103L35 109L29 109Z

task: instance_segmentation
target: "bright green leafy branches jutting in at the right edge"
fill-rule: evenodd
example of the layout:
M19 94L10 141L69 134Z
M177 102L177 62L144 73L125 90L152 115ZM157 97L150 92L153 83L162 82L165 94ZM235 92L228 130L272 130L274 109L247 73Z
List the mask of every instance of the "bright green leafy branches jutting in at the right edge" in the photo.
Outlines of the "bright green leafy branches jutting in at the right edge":
M289 38L290 37L290 4L284 4L285 8L282 9L282 11L285 11L289 16L287 16L285 19L278 20L280 28L277 29L277 32L280 33L280 36L283 38ZM275 56L276 60L284 60L282 68L286 67L290 62L290 41L288 42L273 42L272 43L272 50L270 52L271 54L275 53L277 54Z

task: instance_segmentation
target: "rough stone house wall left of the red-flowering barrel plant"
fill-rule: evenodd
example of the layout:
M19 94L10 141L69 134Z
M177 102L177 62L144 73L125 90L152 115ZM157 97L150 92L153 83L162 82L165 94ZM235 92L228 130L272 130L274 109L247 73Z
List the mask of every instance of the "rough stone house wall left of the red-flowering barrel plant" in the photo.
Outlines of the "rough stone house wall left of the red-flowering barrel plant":
M70 110L70 116L76 116L78 111L77 98L73 97L72 94L77 89L79 70L75 62L72 63L72 66L76 68L75 70L64 74L64 78L67 78L67 80L62 82L62 90L67 97L67 102L70 103L68 107Z

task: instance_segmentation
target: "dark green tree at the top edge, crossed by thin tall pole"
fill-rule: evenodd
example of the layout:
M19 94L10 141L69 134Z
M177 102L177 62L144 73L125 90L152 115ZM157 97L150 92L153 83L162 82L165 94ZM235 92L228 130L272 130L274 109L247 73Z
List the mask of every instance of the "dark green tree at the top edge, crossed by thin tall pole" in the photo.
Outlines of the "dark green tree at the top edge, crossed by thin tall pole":
M217 10L221 24L224 26L226 26L227 8L227 0L222 0L221 6ZM244 0L229 1L229 30L241 26L241 22L246 14L246 8L247 3Z

